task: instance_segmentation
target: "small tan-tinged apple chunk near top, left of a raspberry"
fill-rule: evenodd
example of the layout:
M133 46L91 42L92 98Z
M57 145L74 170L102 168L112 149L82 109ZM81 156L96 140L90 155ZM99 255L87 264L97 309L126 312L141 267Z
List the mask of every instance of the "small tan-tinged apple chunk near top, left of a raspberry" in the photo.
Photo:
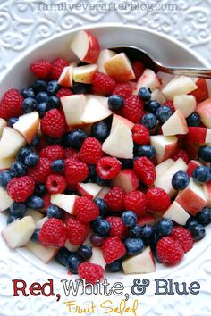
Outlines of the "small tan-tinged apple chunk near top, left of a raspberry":
M96 64L89 64L73 68L73 80L75 82L92 83L94 74L97 72Z

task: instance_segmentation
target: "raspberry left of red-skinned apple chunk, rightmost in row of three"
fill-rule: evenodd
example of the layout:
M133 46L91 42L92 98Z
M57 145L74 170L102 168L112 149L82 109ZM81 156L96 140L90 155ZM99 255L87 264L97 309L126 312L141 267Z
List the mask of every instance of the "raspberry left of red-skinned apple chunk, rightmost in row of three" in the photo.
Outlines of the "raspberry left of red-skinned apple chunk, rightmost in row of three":
M163 212L171 204L171 198L161 187L150 187L146 193L148 209L153 212Z

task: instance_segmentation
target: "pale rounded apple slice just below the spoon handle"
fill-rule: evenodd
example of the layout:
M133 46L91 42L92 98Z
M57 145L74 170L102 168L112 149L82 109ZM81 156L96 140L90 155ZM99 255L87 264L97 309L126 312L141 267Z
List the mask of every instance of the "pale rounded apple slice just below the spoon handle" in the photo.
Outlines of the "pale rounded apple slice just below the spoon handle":
M195 90L197 85L190 77L179 76L169 81L162 89L162 93L167 100L173 100L174 96L187 95Z

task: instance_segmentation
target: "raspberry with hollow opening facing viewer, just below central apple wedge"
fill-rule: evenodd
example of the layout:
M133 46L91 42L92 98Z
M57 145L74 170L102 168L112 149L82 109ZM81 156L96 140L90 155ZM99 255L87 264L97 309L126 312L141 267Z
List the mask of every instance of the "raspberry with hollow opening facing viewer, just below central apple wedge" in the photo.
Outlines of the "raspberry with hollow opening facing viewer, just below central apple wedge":
M97 162L97 174L102 179L114 179L122 168L122 163L115 157L103 157Z

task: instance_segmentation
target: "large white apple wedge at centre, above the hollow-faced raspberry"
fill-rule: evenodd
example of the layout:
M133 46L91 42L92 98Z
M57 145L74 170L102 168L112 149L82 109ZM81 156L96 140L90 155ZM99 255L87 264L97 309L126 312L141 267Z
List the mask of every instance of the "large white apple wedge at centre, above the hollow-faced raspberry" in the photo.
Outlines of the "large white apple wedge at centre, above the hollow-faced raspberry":
M105 139L102 149L105 154L117 158L131 159L133 157L131 129L122 122L117 124L113 132Z

